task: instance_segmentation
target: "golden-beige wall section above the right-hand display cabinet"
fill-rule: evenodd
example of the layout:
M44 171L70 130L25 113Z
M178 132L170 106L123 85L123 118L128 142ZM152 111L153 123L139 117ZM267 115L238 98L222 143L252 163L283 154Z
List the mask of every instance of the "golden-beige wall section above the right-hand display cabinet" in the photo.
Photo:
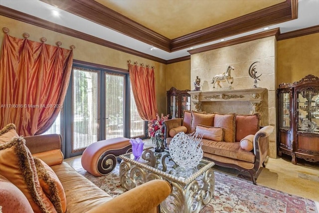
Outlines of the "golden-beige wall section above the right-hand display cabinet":
M319 33L277 42L277 84L319 76Z

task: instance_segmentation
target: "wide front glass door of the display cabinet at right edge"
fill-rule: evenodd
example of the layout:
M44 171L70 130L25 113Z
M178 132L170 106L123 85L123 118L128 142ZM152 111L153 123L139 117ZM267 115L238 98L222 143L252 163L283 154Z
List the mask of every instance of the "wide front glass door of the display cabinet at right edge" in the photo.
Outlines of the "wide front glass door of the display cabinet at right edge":
M297 131L319 133L319 91L298 91L297 95Z

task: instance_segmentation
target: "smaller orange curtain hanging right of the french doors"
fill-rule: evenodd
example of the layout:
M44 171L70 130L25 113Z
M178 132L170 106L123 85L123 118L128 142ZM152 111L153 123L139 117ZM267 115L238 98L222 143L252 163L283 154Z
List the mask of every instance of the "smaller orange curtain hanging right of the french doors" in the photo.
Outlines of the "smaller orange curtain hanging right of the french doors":
M128 64L135 103L140 117L145 121L156 119L158 113L154 67Z

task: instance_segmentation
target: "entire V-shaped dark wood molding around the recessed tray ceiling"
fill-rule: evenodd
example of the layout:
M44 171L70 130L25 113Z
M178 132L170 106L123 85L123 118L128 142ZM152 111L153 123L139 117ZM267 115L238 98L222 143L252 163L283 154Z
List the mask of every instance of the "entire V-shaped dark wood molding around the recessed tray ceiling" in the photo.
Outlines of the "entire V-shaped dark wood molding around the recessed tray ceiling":
M94 0L41 1L119 31L167 52L177 51L194 45L244 33L256 28L295 19L297 18L298 7L297 0L286 0L256 12L170 40Z

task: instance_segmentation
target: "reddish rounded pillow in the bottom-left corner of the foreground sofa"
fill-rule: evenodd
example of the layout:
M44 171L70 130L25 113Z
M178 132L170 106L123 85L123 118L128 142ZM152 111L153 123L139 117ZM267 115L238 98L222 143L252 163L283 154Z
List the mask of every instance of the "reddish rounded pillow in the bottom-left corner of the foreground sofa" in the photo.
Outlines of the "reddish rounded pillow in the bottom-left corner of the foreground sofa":
M33 210L14 184L0 175L0 212L3 213L32 213Z

